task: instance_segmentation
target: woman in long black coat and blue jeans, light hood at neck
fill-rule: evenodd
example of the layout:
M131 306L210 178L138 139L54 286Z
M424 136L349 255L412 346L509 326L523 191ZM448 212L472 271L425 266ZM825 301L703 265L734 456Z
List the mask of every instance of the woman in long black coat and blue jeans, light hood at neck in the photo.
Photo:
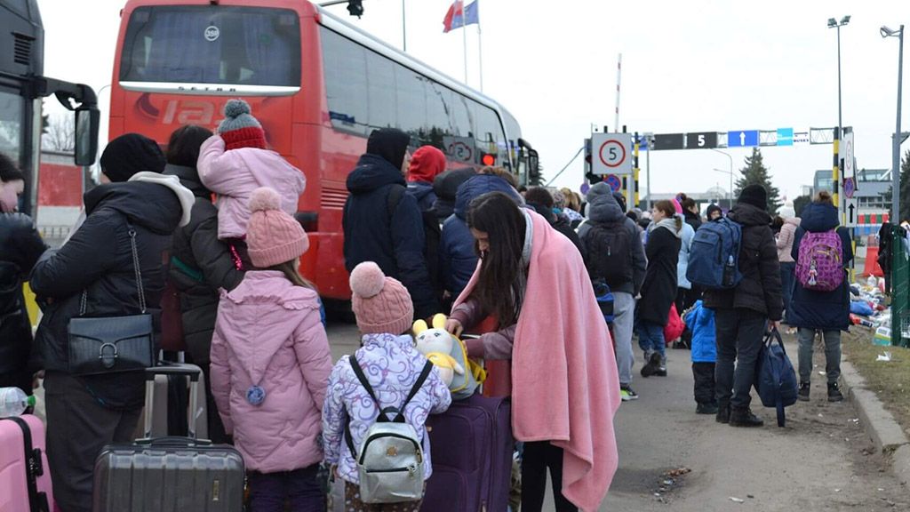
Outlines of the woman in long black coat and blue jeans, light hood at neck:
M682 243L682 219L675 214L672 202L658 201L652 210L653 221L648 227L648 242L644 248L648 270L642 283L642 298L635 310L635 332L638 333L638 344L644 351L645 360L642 377L667 374L663 327L667 324L670 306L676 297L676 263Z

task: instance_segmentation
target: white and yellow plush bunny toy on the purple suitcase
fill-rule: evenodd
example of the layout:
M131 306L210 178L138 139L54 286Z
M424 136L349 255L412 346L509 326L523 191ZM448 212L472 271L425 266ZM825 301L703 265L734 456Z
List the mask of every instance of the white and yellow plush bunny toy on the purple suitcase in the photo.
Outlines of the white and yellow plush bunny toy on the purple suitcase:
M446 315L435 315L432 327L418 320L413 331L417 350L440 369L440 376L449 386L452 398L460 400L474 394L487 374L480 364L468 359L464 343L446 331Z

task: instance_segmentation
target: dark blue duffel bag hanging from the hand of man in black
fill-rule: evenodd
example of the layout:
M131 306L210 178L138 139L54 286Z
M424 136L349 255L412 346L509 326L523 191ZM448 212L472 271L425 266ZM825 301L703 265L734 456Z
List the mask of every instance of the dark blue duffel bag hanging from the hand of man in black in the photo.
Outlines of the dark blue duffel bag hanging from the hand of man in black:
M774 343L775 340L777 343ZM784 426L784 407L796 403L799 390L794 365L784 351L784 342L777 329L772 329L764 336L755 369L755 388L765 407L777 409L777 426Z

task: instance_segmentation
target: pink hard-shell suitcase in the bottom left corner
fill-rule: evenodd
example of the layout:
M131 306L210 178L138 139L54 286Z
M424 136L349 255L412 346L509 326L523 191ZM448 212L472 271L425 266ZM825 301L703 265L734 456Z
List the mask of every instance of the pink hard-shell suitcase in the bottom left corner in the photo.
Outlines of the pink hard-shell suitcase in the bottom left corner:
M0 510L52 512L45 425L35 415L0 418Z

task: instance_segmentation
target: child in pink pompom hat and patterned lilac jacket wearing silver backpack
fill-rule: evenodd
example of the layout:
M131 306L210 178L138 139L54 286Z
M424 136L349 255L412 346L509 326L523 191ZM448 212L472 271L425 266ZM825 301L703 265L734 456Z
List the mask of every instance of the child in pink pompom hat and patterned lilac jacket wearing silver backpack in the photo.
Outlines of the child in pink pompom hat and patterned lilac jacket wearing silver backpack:
M449 408L451 394L439 369L414 348L408 290L372 261L351 271L350 288L362 346L339 359L329 377L325 460L345 482L346 511L416 512L432 474L424 425Z

